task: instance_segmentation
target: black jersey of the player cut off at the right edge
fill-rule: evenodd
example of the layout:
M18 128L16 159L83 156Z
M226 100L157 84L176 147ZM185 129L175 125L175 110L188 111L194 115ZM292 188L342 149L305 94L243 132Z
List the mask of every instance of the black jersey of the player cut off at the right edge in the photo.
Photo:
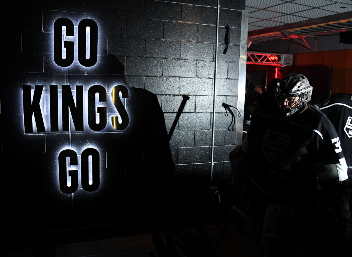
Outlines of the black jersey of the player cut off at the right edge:
M352 182L352 94L337 93L320 108L334 125L346 158L350 184Z

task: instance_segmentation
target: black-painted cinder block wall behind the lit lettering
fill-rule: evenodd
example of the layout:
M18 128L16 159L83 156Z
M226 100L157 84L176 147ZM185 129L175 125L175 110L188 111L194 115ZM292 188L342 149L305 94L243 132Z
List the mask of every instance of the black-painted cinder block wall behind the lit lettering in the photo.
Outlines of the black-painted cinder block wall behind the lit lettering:
M222 0L220 4L215 178L230 175L228 153L234 148L235 131L227 130L231 115L225 117L221 104L237 106L240 10L245 8L245 0ZM174 172L181 181L210 177L215 6L216 0L13 0L3 8L3 205L9 207L7 217L12 221L20 220L21 213L32 213L24 218L26 222L12 222L3 234L31 230L33 224L40 223L58 229L72 224L88 226L93 221L98 225L116 223L108 218L102 221L101 213L109 209L114 219L128 217L128 204L123 200L127 195L132 199L138 191L134 201L138 199L150 207L151 198L144 199L140 192L150 191L143 187L143 180L152 181L154 170L157 175L163 170ZM77 50L68 69L55 64L53 24L61 17L73 21L75 34L80 20L96 21L99 56L95 66L80 65L76 61ZM224 55L226 24L231 27L231 43ZM100 84L107 89L108 98L114 85L125 85L129 91L124 102L129 126L116 131L108 125L102 132L94 132L84 121L84 131L50 132L47 99L51 84L59 88L69 84L74 97L76 85L83 85L86 97L90 86ZM31 85L32 89L44 85L41 108L45 133L24 133L22 85ZM190 99L168 145L166 133L175 119L182 94ZM113 114L108 114L108 124ZM73 146L78 156L90 146L100 151L98 190L85 192L81 184L74 194L59 190L57 156L62 149ZM172 158L173 164L168 158ZM161 196L154 196L158 197ZM90 213L90 217L84 213Z

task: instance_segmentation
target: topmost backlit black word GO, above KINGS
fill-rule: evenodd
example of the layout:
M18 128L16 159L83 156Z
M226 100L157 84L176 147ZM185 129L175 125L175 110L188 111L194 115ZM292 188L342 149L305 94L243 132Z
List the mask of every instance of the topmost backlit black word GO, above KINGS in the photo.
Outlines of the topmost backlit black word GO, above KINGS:
M62 28L66 28L66 36L74 36L73 22L67 18L59 18L54 23L54 61L61 67L68 67L74 60L74 42L63 38ZM63 42L63 44L62 44ZM85 67L93 66L98 60L98 25L92 19L83 19L78 24L78 62ZM63 48L66 57L63 58Z

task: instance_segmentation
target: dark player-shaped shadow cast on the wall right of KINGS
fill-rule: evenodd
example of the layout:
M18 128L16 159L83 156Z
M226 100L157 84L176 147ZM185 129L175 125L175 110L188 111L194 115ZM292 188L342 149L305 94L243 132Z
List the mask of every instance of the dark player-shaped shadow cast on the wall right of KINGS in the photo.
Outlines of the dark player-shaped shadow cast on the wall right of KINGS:
M124 66L114 55L108 55L100 69L108 74L124 74ZM130 87L124 76L109 77L108 92L117 84L128 88L126 110L129 116L126 151L115 165L126 168L126 177L142 182L161 182L174 175L165 119L157 96L145 89ZM111 145L114 151L114 146Z

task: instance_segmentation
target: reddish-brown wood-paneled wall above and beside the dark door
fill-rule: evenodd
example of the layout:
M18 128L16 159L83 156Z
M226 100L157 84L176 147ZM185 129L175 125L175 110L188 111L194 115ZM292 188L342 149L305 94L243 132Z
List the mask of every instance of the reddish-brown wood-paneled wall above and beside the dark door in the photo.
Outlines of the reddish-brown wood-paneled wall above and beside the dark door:
M293 65L332 66L331 94L352 94L352 49L293 55Z

